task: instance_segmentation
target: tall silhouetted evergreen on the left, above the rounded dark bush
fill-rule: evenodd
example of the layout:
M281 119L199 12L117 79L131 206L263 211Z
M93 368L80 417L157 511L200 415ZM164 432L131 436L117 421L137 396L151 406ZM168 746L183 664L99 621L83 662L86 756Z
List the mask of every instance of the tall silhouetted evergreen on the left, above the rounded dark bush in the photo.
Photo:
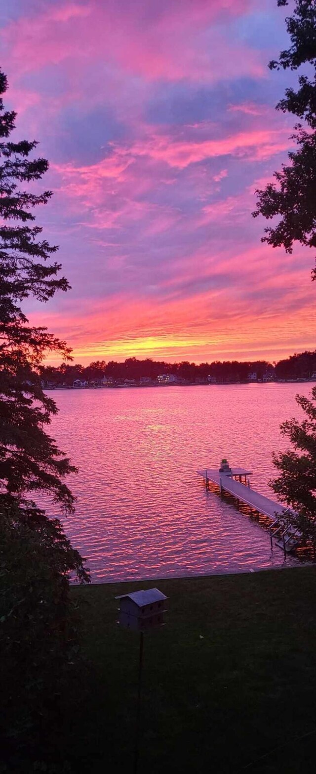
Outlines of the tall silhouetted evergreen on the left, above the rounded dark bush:
M0 94L7 89L0 71ZM46 302L69 285L59 277L61 266L49 262L56 245L41 238L32 210L46 204L51 191L33 194L29 183L48 168L46 159L29 159L36 142L9 142L15 112L5 111L0 98L0 493L23 498L45 491L64 511L72 511L73 495L65 477L70 465L46 433L56 405L42 391L39 365L49 351L65 358L65 342L44 327L32 327L21 303L32 296ZM25 186L19 190L19 186Z

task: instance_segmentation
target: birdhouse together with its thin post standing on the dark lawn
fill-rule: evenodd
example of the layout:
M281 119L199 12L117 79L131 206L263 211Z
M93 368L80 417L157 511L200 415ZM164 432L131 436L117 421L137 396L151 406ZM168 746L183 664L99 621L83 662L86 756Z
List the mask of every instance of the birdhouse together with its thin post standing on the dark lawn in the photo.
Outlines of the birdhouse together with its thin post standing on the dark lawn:
M139 739L141 728L141 676L143 668L144 632L160 628L165 624L165 601L167 597L158 588L148 588L146 591L132 591L131 594L121 594L118 608L118 625L123 628L140 632L139 667L138 667L138 704L136 714L136 734L134 751L134 774L138 772Z

